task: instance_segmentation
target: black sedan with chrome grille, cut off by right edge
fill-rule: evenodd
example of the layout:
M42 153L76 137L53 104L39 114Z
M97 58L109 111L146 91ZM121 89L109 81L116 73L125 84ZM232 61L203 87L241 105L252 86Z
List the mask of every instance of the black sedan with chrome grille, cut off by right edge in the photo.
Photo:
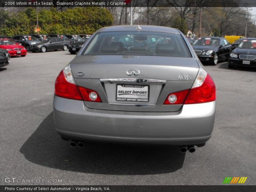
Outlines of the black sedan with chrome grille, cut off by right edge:
M229 54L228 67L256 67L256 38L246 38Z

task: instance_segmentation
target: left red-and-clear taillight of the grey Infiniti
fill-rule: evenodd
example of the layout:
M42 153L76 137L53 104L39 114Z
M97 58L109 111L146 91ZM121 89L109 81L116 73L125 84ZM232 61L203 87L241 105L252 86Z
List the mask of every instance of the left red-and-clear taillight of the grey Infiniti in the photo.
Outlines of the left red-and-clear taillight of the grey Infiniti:
M57 77L54 94L67 99L102 102L96 91L76 85L69 65Z

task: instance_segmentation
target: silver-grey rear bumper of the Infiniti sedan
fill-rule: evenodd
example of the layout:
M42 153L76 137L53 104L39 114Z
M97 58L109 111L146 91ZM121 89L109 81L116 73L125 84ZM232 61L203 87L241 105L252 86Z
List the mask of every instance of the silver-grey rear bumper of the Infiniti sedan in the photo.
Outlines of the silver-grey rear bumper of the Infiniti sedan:
M90 109L83 101L54 96L53 114L56 131L68 139L196 145L211 137L215 101L178 112L128 112Z

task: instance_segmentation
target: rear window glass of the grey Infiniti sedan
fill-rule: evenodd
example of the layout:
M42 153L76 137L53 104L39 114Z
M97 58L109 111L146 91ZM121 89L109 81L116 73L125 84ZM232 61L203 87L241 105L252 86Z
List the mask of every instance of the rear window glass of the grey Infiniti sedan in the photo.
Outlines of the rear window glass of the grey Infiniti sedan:
M98 33L82 54L191 57L180 34L149 31Z

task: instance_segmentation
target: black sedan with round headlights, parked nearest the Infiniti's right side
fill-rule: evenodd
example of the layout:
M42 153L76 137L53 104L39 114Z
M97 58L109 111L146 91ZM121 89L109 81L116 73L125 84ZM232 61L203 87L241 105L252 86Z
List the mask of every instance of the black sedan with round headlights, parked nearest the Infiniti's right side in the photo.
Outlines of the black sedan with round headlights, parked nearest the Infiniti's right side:
M228 60L231 44L222 37L202 37L193 44L193 48L200 61L217 65L219 60Z

